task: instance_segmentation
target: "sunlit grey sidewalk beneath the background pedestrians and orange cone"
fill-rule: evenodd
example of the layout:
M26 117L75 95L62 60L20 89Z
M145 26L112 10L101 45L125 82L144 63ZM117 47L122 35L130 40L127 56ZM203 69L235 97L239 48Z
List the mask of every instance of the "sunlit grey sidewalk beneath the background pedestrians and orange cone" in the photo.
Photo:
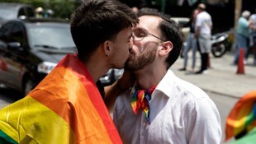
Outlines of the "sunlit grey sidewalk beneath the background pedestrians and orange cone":
M244 65L245 74L236 74L237 66L231 65L233 61L233 53L227 52L221 58L214 58L210 54L211 68L208 73L195 75L191 71L192 56L188 53L187 72L178 71L183 67L183 58L178 58L171 69L183 80L189 81L192 84L201 87L204 91L211 91L220 95L228 95L232 97L241 97L249 91L256 90L256 66L253 63L253 58L249 58L248 65ZM197 53L196 71L201 66L200 54Z

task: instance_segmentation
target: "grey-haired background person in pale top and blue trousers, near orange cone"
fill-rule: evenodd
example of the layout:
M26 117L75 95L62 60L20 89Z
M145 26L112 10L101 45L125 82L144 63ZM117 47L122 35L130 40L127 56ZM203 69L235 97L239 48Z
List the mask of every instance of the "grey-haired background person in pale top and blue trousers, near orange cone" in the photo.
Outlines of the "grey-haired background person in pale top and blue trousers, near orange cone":
M239 17L236 34L235 34L235 58L232 64L236 65L239 59L240 49L244 50L244 64L245 64L245 53L248 50L248 40L249 40L249 11L242 12Z

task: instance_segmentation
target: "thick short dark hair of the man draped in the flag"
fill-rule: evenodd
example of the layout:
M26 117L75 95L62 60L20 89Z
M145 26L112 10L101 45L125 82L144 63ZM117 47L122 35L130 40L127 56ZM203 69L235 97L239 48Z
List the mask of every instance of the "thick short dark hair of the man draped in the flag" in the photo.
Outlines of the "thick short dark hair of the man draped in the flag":
M85 0L71 16L71 34L79 58L88 58L106 40L114 40L138 18L117 0Z

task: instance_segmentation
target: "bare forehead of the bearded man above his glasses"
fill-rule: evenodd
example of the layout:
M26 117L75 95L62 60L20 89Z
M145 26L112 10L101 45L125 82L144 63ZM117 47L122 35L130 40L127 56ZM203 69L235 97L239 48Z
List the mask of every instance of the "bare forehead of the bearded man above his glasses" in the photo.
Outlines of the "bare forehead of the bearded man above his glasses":
M140 16L139 20L139 25L137 25L137 27L150 31L158 30L161 18L158 16Z

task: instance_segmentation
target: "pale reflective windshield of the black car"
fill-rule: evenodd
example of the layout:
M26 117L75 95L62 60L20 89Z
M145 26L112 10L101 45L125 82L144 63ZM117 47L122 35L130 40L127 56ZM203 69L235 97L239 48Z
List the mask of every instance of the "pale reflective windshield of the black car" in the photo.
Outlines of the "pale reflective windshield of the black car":
M30 44L35 49L36 45L47 45L57 49L74 48L75 44L67 26L29 26L28 36Z

